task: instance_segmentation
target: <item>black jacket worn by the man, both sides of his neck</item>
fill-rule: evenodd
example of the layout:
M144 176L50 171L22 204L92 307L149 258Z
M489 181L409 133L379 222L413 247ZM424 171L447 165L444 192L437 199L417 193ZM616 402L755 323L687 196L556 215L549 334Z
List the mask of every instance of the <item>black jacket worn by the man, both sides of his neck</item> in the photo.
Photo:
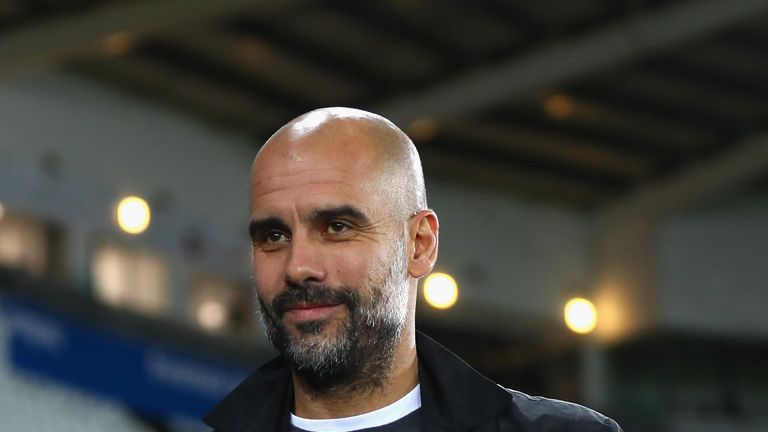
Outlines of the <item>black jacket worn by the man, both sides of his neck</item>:
M422 430L450 432L621 432L608 417L569 402L505 389L417 333ZM280 358L246 378L205 416L216 432L285 432L293 404Z

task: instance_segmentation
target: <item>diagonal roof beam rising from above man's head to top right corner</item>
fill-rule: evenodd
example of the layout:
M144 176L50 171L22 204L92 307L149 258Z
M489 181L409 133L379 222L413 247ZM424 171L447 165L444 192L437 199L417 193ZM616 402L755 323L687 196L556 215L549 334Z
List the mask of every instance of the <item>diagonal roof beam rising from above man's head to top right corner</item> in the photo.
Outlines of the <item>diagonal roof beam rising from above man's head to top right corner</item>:
M766 0L677 2L561 40L528 54L474 69L372 107L394 122L493 107L536 89L561 85L768 13Z

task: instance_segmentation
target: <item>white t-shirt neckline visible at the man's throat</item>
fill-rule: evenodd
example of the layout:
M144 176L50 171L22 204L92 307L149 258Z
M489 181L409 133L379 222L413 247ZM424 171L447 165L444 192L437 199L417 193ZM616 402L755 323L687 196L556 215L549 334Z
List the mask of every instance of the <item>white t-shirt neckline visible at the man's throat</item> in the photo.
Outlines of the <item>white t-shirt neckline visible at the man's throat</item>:
M291 424L310 432L348 432L395 422L421 407L418 384L408 394L376 411L338 419L305 419L291 413Z

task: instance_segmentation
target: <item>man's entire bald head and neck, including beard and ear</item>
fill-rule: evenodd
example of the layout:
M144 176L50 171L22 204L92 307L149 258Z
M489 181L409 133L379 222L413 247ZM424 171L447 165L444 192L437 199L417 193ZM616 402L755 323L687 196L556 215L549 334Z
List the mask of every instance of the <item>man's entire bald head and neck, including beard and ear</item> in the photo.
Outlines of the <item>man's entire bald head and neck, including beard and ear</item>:
M250 196L261 227L252 239L261 318L294 372L296 414L359 414L410 391L417 282L437 254L413 143L374 114L316 110L262 146ZM344 206L368 221L318 216ZM326 228L329 218L346 224L341 232ZM274 229L281 234L264 234ZM327 318L293 321L286 308L300 301L337 306Z

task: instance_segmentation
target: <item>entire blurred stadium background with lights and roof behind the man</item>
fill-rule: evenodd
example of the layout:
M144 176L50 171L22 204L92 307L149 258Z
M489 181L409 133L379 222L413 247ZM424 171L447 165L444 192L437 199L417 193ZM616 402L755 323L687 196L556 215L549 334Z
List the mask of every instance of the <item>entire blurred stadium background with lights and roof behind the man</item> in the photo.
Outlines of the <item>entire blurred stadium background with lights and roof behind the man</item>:
M4 428L207 430L273 355L252 158L331 105L421 152L419 328L627 432L768 430L763 0L0 0Z

